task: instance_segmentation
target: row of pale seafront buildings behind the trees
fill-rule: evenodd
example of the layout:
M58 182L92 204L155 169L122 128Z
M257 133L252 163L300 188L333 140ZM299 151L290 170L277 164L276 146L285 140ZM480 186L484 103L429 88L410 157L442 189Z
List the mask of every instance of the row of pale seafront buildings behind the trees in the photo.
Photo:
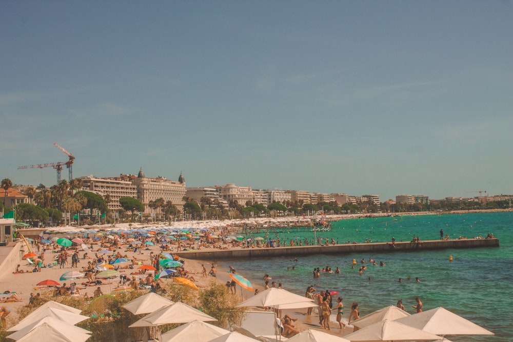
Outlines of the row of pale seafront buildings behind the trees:
M133 197L145 206L146 214L152 212L150 204L157 199L162 198L164 202L170 201L177 208L182 209L184 203L183 198L189 197L200 203L202 197L207 197L211 202L219 201L224 207L228 207L232 201L236 201L239 205L245 206L247 203L258 203L268 206L271 203L297 203L318 204L336 202L342 206L344 204L360 204L371 202L380 206L379 195L362 195L352 196L345 193L319 193L308 192L304 190L258 190L251 187L241 187L235 184L215 185L212 187L195 187L187 188L185 177L182 173L178 180L170 180L162 176L156 178L146 177L143 169L137 175L121 174L117 177L94 177L92 175L80 177L82 180L82 190L90 191L109 198L107 206L112 211L121 209L119 199L121 197ZM481 202L490 202L494 200L511 200L512 196L480 196L477 197ZM16 204L30 203L29 198L19 189L9 189L4 196L5 207L12 208ZM464 199L462 197L447 197L444 200L449 202L461 202L462 200L476 200L476 197ZM394 203L393 200L387 202ZM217 203L217 202L216 202ZM429 204L429 197L426 195L397 195L395 203L404 204Z

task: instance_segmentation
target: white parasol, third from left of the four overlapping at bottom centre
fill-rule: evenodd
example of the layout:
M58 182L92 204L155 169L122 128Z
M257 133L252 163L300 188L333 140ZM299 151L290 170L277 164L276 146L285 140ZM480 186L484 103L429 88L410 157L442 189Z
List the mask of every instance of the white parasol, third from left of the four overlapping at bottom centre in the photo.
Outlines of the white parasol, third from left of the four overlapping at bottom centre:
M193 320L173 330L162 334L162 342L207 342L213 338L228 334L229 331L213 326L200 320Z

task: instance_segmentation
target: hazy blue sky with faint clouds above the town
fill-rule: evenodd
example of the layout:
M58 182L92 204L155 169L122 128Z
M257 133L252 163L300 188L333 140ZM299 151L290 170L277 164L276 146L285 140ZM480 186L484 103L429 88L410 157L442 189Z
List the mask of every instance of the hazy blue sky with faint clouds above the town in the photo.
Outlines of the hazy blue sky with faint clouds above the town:
M513 194L510 1L0 0L0 178ZM67 170L62 178L68 177Z

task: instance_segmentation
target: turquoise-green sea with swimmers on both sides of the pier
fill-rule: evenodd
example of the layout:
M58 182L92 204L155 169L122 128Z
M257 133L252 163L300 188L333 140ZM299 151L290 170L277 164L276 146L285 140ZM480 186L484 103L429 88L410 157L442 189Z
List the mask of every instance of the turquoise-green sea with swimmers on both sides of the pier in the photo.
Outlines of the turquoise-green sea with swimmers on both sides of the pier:
M500 247L446 249L344 255L311 255L298 257L220 260L223 267L233 266L252 284L264 286L264 273L283 288L300 295L309 285L318 291L336 291L343 297L347 318L353 302L359 304L360 317L403 300L406 311L415 313L415 297L420 297L423 310L443 307L476 323L495 335L446 336L453 342L513 341L513 213L462 213L403 215L380 218L343 219L331 223L329 231L311 228L269 228L259 234L286 240L314 241L315 238L336 242L396 242L440 239L440 230L451 239L486 237L493 234ZM288 244L287 244L288 245ZM368 260L376 260L372 266ZM450 261L452 258L452 261ZM353 259L356 265L353 266ZM359 274L361 260L367 269ZM379 266L383 261L385 266ZM336 267L340 274L321 272L313 278L314 268ZM293 268L293 269L292 269ZM408 277L410 280L408 280ZM420 283L415 280L418 277ZM403 281L400 283L399 278ZM246 291L246 290L245 290ZM335 301L333 300L333 303ZM347 313L346 313L347 312ZM332 324L332 327L335 325Z

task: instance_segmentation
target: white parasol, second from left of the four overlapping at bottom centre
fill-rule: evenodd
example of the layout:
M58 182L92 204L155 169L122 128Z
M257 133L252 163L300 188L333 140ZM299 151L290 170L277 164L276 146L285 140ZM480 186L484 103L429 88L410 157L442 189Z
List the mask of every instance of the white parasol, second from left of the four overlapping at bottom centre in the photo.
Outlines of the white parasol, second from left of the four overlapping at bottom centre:
M129 328L155 327L174 323L189 323L193 320L214 321L217 319L201 312L200 310L196 310L193 307L183 304L181 301L177 301L170 306L163 307L141 318L129 326Z

